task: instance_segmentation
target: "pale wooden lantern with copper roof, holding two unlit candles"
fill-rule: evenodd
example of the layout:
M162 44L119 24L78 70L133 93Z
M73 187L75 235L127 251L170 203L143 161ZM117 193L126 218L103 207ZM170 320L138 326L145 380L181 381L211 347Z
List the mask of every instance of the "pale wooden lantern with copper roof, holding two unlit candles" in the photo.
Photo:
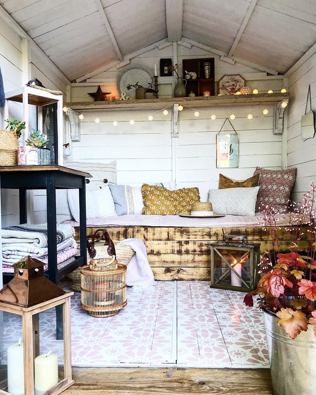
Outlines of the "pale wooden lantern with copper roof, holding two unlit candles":
M56 395L74 383L70 327L70 297L73 292L66 292L48 280L43 266L44 263L37 259L23 258L13 265L14 278L0 290L0 311L4 317L9 317L9 325L22 318L23 336L23 342L21 337L20 340L17 337L13 344L4 343L6 359L2 361L0 394ZM64 358L61 364L58 364L54 350L40 354L43 347L40 342L40 314L47 314L46 310L57 306L63 308Z

